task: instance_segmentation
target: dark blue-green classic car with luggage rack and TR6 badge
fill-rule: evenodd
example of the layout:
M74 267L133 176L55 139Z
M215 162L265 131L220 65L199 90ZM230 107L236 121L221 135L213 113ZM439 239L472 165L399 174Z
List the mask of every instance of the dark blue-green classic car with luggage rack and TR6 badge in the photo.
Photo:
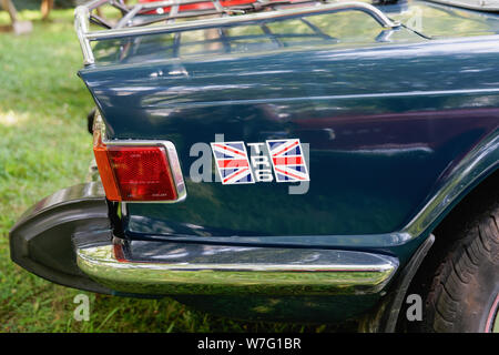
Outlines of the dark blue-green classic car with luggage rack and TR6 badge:
M94 10L114 7L121 16ZM184 0L75 10L93 181L12 260L247 320L491 332L499 3Z

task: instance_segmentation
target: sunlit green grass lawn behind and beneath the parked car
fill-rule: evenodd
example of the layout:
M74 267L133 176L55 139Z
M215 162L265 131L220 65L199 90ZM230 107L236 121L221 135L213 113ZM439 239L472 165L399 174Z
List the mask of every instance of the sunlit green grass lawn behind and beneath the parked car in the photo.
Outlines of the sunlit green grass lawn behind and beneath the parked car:
M171 298L86 293L89 322L73 320L81 293L37 277L10 261L8 233L31 204L84 181L92 158L85 115L92 99L77 77L82 64L72 10L50 22L37 11L33 32L0 33L0 332L324 332L333 327L235 322ZM0 24L8 23L0 12Z

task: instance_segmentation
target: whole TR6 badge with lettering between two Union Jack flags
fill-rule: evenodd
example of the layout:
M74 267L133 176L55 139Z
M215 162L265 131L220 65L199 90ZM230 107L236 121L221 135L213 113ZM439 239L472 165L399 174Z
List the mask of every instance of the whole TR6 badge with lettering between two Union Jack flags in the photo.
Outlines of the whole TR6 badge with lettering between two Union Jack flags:
M211 143L216 169L223 184L252 184L255 182L309 181L308 170L298 139L268 140L265 143Z

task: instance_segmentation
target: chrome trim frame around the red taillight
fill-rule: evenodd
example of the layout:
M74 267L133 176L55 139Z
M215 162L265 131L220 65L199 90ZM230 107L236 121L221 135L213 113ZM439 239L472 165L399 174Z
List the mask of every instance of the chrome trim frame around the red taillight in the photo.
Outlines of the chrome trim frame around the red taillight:
M156 200L156 201L121 201L123 206L128 203L177 203L187 197L187 190L185 187L184 175L176 153L175 145L170 141L163 140L109 140L105 133L105 124L99 112L95 113L93 122L93 134L100 134L102 143L106 146L162 146L166 152L166 162L172 172L173 182L176 191L175 200Z

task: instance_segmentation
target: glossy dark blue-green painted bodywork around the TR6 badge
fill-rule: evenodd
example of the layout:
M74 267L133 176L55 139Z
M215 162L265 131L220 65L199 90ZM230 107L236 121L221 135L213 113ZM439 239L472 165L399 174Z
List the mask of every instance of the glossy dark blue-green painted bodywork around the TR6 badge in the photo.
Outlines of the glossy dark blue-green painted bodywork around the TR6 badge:
M128 204L128 235L385 247L427 233L438 215L424 207L440 196L444 211L452 201L442 191L467 181L465 191L497 163L499 20L422 2L390 16L404 21L417 8L422 36L344 12L307 18L312 27L293 19L100 42L96 65L80 74L109 138L172 141L187 186L182 203ZM193 146L216 134L308 143L307 193L195 182ZM421 213L431 217L415 227Z

